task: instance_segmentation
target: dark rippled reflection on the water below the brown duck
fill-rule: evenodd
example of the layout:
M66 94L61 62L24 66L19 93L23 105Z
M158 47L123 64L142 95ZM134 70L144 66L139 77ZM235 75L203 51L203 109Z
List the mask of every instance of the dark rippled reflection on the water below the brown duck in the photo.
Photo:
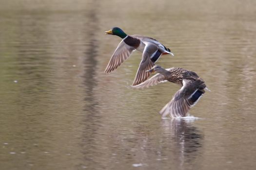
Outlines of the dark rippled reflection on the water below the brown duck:
M191 119L162 119L163 131L165 134L170 134L169 137L173 142L174 153L178 154L180 166L200 155L198 151L202 147L204 136L193 121Z

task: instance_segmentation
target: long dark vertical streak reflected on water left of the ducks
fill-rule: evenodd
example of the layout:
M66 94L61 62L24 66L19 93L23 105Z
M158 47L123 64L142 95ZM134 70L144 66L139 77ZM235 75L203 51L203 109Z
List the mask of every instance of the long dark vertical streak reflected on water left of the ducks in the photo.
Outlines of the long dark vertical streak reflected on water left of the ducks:
M91 154L95 152L96 146L95 143L97 140L97 130L100 125L99 119L100 115L98 110L96 109L98 102L95 97L94 88L98 85L96 80L97 74L97 60L96 56L98 55L98 41L96 39L96 33L98 30L98 18L96 16L96 4L91 4L91 10L85 16L88 20L86 23L86 34L85 39L86 42L86 50L84 52L84 74L83 74L83 84L85 87L85 107L84 107L84 119L82 124L84 123L84 130L82 135L82 154L84 155L84 160L87 163L95 164L95 160L91 157ZM90 137L88 137L90 136ZM88 166L88 164L86 165ZM86 167L85 166L85 167ZM90 165L89 165L90 166ZM83 164L80 164L79 167L84 167Z

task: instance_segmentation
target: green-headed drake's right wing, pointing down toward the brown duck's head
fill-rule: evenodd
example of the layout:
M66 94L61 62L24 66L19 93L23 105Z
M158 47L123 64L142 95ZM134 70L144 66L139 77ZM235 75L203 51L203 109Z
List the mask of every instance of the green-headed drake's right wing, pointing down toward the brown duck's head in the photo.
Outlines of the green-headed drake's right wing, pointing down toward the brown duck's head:
M151 61L150 56L154 54L158 50L158 46L155 44L151 44L148 42L145 43L145 48L142 54L142 60L139 64L133 85L138 85L150 76L150 72L146 72L146 70L151 69L155 64Z

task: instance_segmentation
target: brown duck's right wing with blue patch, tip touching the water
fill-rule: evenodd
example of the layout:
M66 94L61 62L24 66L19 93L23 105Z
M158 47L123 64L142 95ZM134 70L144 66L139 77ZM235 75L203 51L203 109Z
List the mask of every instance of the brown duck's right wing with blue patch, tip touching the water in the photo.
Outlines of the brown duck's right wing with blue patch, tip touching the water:
M198 90L201 81L183 80L183 86L179 89L173 99L168 102L159 112L162 117L170 114L171 117L184 117L189 109L194 106L202 97L204 91Z

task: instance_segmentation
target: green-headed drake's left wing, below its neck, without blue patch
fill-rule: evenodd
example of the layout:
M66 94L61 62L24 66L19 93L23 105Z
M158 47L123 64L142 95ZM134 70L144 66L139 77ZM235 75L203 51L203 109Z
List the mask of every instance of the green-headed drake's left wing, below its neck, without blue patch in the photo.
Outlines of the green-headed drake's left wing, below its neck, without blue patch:
M130 57L131 53L136 50L135 48L128 46L122 40L115 52L113 53L112 57L109 60L109 63L105 69L105 73L110 73L118 68L127 58Z

